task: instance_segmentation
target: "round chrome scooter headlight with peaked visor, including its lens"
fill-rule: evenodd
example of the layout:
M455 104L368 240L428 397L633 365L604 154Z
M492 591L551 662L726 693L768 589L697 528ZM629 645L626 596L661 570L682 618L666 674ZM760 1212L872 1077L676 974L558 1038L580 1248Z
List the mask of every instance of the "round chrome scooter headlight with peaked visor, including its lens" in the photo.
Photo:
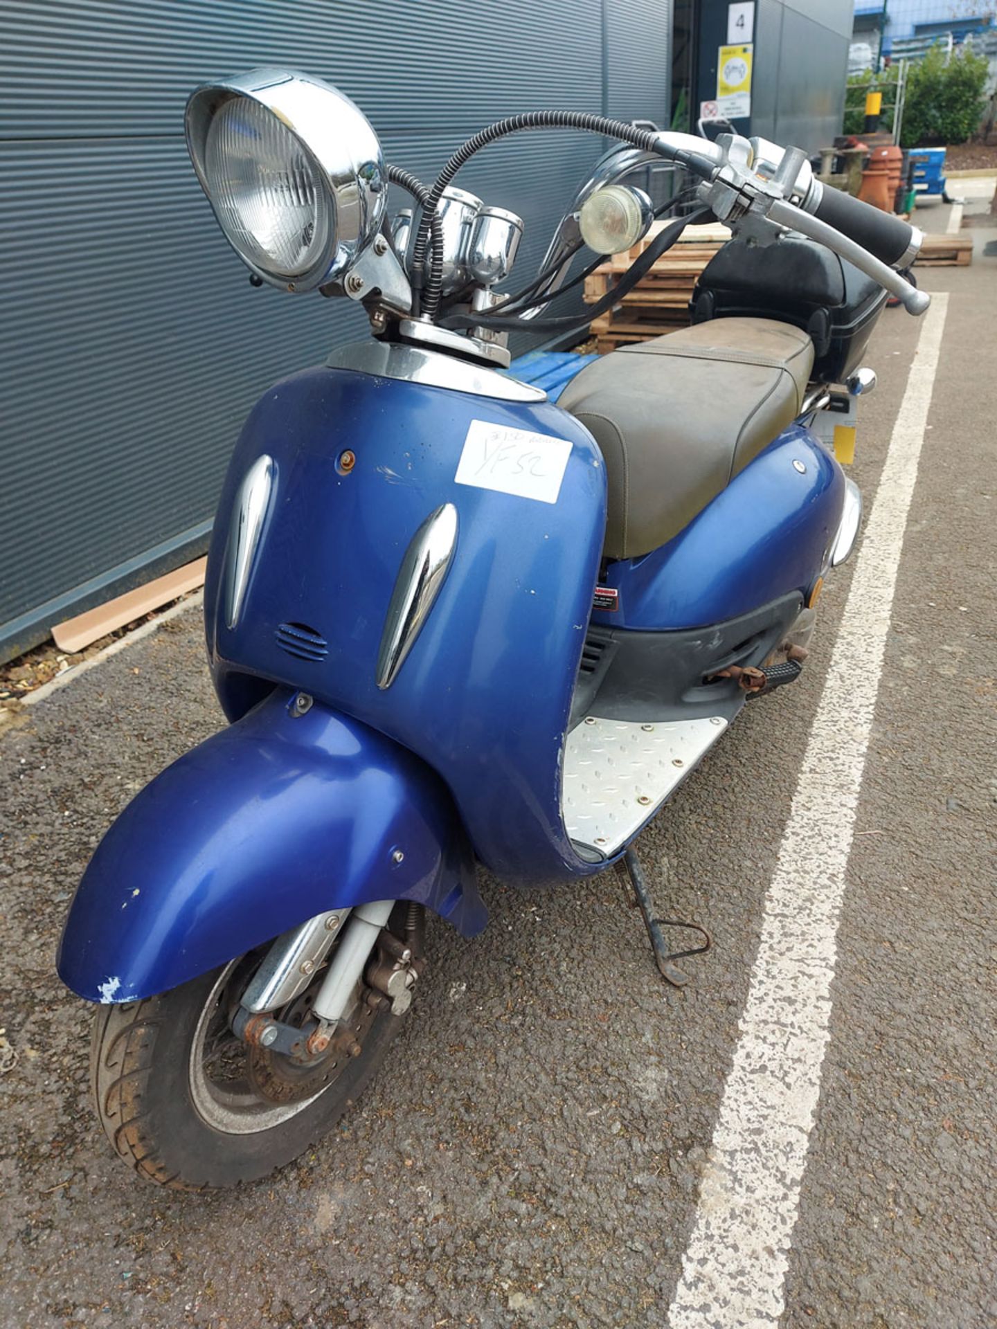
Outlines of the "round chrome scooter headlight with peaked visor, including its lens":
M346 274L380 230L378 136L331 84L251 69L187 101L187 152L226 239L265 282L314 291Z

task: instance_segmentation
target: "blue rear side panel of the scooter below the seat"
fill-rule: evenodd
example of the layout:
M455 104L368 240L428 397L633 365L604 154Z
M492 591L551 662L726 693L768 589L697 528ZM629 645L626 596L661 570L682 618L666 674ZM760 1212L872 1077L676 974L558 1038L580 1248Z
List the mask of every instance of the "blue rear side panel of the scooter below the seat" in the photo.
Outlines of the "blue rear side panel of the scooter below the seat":
M808 429L792 425L667 545L610 563L606 585L619 591L619 607L593 614L593 622L643 631L709 627L790 591L806 594L843 506L841 468Z

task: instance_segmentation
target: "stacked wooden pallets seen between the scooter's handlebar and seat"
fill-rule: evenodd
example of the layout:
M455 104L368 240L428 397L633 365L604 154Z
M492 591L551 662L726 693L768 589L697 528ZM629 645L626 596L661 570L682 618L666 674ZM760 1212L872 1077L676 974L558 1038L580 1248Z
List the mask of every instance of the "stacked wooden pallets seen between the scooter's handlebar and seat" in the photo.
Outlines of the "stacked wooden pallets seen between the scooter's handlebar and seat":
M647 235L631 250L614 254L585 278L585 303L596 304L619 282L661 231L666 222L655 222ZM626 346L646 342L677 327L689 326L689 300L693 287L717 250L730 239L726 226L687 226L677 245L667 250L641 282L623 295L608 314L593 319L592 335L600 355Z

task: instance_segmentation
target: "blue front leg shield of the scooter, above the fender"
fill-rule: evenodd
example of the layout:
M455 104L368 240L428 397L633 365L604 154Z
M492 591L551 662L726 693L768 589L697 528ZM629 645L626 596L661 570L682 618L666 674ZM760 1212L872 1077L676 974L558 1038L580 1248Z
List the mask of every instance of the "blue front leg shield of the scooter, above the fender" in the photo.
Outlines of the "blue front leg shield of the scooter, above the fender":
M568 439L556 504L457 485L468 425L485 420ZM347 473L343 449L356 456ZM219 603L226 525L253 461L277 477L243 617ZM397 679L376 686L378 647L408 542L441 504L457 508L447 579ZM205 613L215 683L237 715L245 675L300 687L396 739L448 784L477 856L505 880L594 870L560 808L561 746L605 526L602 459L550 403L510 403L315 368L257 405L226 480ZM307 625L328 655L280 649L282 622Z

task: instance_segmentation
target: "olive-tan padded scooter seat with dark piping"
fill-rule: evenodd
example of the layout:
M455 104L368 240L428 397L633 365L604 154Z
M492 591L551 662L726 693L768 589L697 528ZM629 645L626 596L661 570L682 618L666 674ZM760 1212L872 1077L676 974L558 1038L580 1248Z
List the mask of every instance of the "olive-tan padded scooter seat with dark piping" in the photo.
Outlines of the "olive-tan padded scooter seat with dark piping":
M606 462L608 558L666 544L800 413L814 343L771 319L713 319L613 351L558 400Z

